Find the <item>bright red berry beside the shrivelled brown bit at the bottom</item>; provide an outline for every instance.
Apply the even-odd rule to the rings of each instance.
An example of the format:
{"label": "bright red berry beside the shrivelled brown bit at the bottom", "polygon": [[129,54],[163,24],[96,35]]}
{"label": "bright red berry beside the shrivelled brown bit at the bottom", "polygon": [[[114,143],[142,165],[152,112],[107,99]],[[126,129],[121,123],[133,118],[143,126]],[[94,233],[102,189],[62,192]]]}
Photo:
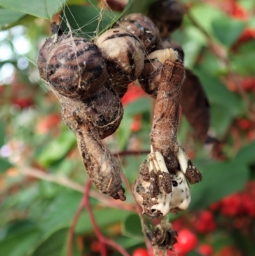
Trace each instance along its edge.
{"label": "bright red berry beside the shrivelled brown bit at the bottom", "polygon": [[181,229],[178,232],[177,243],[174,245],[175,252],[187,253],[196,247],[198,238],[189,229]]}

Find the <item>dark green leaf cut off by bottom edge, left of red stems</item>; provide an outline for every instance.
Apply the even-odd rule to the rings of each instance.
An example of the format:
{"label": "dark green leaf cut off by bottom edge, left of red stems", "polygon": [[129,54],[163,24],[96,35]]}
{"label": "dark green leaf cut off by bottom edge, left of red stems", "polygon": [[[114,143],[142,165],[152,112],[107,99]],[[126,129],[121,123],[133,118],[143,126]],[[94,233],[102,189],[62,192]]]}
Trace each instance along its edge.
{"label": "dark green leaf cut off by bottom edge, left of red stems", "polygon": [[59,229],[47,237],[33,252],[33,256],[56,256],[60,255],[66,244],[66,236],[69,229]]}

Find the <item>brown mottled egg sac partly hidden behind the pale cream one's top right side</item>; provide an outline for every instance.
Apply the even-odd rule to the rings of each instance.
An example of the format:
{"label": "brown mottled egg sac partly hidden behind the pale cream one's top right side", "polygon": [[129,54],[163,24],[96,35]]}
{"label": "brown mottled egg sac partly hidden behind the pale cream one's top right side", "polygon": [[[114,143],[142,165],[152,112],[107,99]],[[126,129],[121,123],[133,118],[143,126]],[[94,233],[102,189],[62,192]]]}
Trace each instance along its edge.
{"label": "brown mottled egg sac partly hidden behind the pale cream one's top right side", "polygon": [[147,54],[161,47],[159,29],[154,22],[142,13],[132,13],[120,19],[117,24],[135,34],[143,43]]}

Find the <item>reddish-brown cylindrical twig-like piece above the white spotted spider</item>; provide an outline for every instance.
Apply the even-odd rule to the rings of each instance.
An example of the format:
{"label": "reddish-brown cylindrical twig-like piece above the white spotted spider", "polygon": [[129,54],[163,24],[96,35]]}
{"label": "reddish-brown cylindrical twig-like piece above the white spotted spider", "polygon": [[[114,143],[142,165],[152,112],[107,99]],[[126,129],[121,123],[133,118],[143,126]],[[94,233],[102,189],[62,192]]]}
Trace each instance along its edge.
{"label": "reddish-brown cylindrical twig-like piece above the white spotted spider", "polygon": [[180,87],[184,77],[185,70],[180,61],[164,62],[150,140],[154,151],[164,156],[168,170],[178,168],[175,144],[179,125]]}

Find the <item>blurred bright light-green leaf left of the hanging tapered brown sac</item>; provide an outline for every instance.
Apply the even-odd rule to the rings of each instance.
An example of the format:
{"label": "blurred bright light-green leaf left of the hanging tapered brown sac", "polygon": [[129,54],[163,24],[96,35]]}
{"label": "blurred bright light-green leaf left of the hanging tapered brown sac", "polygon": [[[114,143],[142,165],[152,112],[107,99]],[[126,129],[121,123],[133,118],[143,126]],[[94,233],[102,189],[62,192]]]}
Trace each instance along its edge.
{"label": "blurred bright light-green leaf left of the hanging tapered brown sac", "polygon": [[38,156],[38,162],[43,167],[48,167],[59,160],[76,145],[76,137],[71,130],[64,130],[59,137],[53,140]]}

